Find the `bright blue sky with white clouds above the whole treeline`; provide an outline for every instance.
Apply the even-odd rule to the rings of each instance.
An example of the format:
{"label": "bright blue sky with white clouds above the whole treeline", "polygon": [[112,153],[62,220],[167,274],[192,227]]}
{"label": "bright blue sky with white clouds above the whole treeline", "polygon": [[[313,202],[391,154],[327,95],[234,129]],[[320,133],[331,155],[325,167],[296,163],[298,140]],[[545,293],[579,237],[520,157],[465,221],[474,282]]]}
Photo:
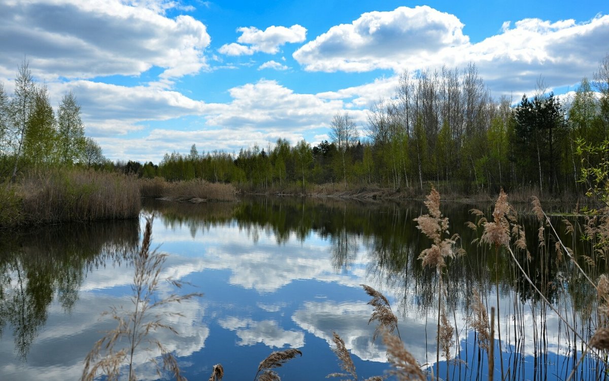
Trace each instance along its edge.
{"label": "bright blue sky with white clouds above the whole treeline", "polygon": [[113,160],[363,131],[398,75],[475,63],[495,97],[565,93],[609,54],[607,1],[0,0],[0,82],[29,60]]}

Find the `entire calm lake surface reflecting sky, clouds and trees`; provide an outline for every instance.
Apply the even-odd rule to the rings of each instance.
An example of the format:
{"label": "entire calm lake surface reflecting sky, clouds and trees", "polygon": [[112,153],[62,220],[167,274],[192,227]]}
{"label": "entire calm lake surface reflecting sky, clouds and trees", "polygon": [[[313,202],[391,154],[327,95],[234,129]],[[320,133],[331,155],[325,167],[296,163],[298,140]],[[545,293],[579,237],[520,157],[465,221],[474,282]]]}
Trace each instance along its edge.
{"label": "entire calm lake surface reflecting sky, clouds and trees", "polygon": [[[489,217],[492,207],[476,206]],[[451,353],[457,361],[448,363],[449,378],[487,379],[486,355],[471,327],[471,303],[473,290],[479,290],[490,311],[497,304],[498,282],[507,379],[566,379],[582,343],[504,250],[495,253],[471,243],[480,235],[466,227],[474,221],[471,208],[462,203],[441,208],[467,253],[449,260],[443,274],[446,311],[456,326]],[[139,220],[5,233],[0,236],[0,379],[80,378],[85,355],[116,326],[102,313],[111,306],[133,306],[133,253],[150,214],[155,214],[152,246],[168,254],[163,277],[188,282],[180,293],[204,293],[161,307],[161,313],[181,313],[167,318],[179,335],[155,334],[174,351],[189,380],[207,380],[217,363],[224,366],[224,380],[252,380],[261,360],[286,348],[303,355],[275,369],[281,379],[322,380],[342,372],[332,351],[333,332],[350,351],[359,379],[386,374],[385,348],[380,338],[373,340],[376,322],[368,324],[372,307],[362,284],[387,296],[406,349],[424,372],[435,375],[437,274],[421,266],[418,255],[431,241],[413,221],[426,212],[415,201],[147,201]],[[526,260],[521,254],[521,264],[566,323],[588,340],[597,321],[596,291],[568,261],[557,262],[553,241],[540,249],[535,217],[521,212],[519,218],[532,256]],[[574,238],[560,218],[554,223],[572,246]],[[586,250],[576,245],[576,256],[590,254]],[[582,266],[593,276],[604,273],[604,262]],[[172,292],[169,282],[161,284],[160,297]],[[138,379],[167,378],[158,377],[145,360],[146,352],[136,353]],[[496,355],[495,379],[501,375],[499,363]],[[604,378],[604,369],[596,355],[587,355],[576,377]],[[443,358],[439,372],[446,379]]]}

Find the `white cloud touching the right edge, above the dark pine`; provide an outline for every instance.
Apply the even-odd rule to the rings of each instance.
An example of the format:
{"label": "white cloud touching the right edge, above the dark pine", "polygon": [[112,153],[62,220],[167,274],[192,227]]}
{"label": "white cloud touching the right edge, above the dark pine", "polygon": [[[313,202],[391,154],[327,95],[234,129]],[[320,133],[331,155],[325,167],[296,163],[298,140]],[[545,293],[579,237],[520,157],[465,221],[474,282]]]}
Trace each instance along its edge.
{"label": "white cloud touching the right edge, above the dark pine", "polygon": [[512,29],[468,46],[456,63],[476,63],[494,92],[527,92],[540,75],[551,87],[571,86],[590,76],[607,54],[599,49],[609,41],[609,16],[585,23],[517,21]]}

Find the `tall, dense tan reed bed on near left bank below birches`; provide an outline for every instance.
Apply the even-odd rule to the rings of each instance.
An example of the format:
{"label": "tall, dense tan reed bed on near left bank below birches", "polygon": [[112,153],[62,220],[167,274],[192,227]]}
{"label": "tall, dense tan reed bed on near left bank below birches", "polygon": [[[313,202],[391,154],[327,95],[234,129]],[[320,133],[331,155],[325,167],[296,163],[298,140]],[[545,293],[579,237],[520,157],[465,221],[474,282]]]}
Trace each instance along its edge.
{"label": "tall, dense tan reed bed on near left bank below birches", "polygon": [[133,177],[83,169],[32,171],[0,186],[0,227],[138,216]]}

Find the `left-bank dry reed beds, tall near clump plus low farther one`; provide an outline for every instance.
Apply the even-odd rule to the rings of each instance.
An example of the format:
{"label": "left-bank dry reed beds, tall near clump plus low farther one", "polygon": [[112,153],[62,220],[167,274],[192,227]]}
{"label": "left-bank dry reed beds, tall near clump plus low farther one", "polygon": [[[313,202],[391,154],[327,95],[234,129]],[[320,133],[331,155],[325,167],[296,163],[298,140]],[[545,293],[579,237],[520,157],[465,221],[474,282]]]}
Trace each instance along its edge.
{"label": "left-bank dry reed beds, tall near clump plus low farther one", "polygon": [[32,170],[0,183],[0,228],[136,218],[142,197],[172,201],[236,201],[230,184],[167,183],[88,169]]}

